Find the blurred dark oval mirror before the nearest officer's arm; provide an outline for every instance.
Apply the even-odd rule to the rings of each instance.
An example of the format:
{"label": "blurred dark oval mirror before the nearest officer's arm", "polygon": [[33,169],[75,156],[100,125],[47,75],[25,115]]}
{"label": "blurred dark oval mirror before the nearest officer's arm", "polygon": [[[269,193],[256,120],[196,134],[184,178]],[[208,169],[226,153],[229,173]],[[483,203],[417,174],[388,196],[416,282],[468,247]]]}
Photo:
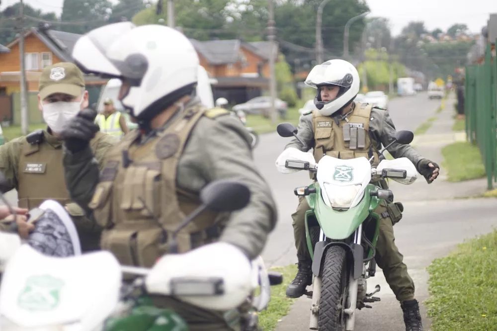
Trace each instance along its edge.
{"label": "blurred dark oval mirror before the nearest officer's arm", "polygon": [[250,201],[250,190],[242,183],[218,180],[208,184],[200,192],[200,201],[216,212],[243,209]]}

